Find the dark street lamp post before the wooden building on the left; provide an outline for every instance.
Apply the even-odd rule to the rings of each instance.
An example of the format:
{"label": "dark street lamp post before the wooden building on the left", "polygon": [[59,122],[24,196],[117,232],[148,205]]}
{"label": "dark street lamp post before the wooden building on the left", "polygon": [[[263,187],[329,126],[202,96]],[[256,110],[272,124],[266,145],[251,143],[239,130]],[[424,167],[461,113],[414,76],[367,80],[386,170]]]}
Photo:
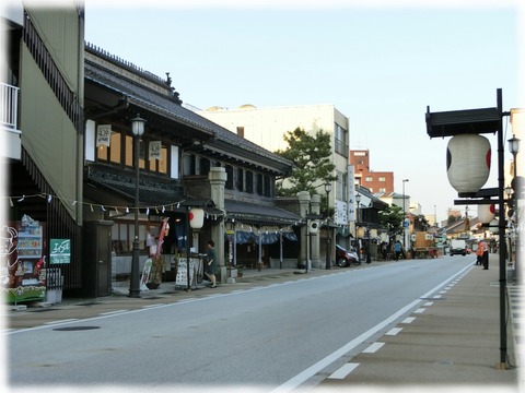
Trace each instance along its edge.
{"label": "dark street lamp post before the wooden building on the left", "polygon": [[139,147],[140,136],[144,133],[144,119],[137,115],[131,119],[131,132],[133,134],[133,165],[135,165],[135,239],[133,253],[131,257],[131,276],[129,281],[128,297],[140,297],[139,285]]}

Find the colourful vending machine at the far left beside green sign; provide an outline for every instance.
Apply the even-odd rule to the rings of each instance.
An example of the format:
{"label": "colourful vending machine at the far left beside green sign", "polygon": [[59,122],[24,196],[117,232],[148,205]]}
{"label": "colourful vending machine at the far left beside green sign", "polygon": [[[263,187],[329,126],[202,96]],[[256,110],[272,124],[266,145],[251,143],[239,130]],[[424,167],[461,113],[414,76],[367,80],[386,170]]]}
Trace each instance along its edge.
{"label": "colourful vending machine at the far left beside green sign", "polygon": [[0,281],[10,303],[45,300],[45,225],[27,215],[0,228]]}

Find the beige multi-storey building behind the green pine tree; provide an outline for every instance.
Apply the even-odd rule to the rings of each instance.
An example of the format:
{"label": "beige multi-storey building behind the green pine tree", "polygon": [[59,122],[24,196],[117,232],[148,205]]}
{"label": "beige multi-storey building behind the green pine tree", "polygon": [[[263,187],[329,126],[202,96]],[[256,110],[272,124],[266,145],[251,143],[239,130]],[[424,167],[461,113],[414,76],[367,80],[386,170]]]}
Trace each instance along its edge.
{"label": "beige multi-storey building behind the green pine tree", "polygon": [[[331,162],[336,166],[337,181],[329,193],[329,206],[335,210],[335,223],[349,227],[353,222],[353,170],[349,170],[350,119],[331,104],[302,105],[287,107],[257,108],[243,105],[236,109],[211,107],[198,114],[225,129],[262,146],[270,152],[287,148],[283,135],[298,127],[314,134],[323,130],[332,135]],[[350,172],[350,176],[349,176]],[[324,182],[319,183],[319,194],[324,194]],[[345,245],[342,239],[338,242]]]}

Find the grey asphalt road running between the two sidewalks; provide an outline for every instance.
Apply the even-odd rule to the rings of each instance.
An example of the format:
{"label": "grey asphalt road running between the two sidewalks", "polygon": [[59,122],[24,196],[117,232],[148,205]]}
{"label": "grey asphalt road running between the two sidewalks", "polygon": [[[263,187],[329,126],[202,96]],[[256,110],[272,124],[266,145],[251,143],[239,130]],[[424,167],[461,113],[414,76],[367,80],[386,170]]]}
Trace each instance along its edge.
{"label": "grey asphalt road running between the two sidewalks", "polygon": [[15,329],[4,333],[8,382],[39,391],[312,386],[469,265],[454,257],[339,270]]}

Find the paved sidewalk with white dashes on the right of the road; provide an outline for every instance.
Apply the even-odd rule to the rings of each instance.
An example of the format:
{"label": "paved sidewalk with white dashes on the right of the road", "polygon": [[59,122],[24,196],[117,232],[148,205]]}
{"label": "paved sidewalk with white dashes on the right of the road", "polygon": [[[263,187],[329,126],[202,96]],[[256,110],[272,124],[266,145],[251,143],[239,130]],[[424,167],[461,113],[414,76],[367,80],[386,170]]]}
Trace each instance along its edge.
{"label": "paved sidewalk with white dashes on the right of the road", "polygon": [[[472,388],[518,392],[523,347],[515,344],[522,317],[521,288],[509,286],[508,365],[500,362],[498,255],[483,271],[472,267],[383,337],[348,359],[320,388]],[[518,389],[521,388],[521,389]],[[375,391],[375,390],[374,390]]]}

